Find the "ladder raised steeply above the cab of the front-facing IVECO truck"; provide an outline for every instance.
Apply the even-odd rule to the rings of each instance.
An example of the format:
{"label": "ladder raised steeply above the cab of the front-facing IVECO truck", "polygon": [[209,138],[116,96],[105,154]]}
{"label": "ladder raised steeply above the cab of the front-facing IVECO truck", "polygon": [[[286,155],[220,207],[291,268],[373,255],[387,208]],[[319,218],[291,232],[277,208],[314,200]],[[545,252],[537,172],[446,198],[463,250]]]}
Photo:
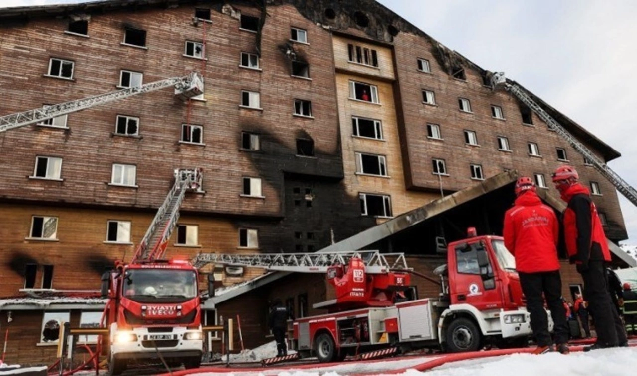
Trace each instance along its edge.
{"label": "ladder raised steeply above the cab of the front-facing IVECO truck", "polygon": [[137,247],[132,262],[152,261],[162,258],[171,233],[179,219],[179,208],[188,190],[201,189],[201,169],[175,170],[175,184]]}

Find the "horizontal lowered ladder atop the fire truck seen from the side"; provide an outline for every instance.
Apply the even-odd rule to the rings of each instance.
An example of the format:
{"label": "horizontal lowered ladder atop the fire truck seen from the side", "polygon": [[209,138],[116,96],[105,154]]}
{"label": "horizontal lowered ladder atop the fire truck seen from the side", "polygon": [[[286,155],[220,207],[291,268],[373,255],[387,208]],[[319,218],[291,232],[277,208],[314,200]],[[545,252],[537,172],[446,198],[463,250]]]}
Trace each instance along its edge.
{"label": "horizontal lowered ladder atop the fire truck seen from the side", "polygon": [[410,270],[403,253],[378,251],[343,251],[332,253],[201,253],[190,263],[201,268],[209,263],[256,267],[280,272],[325,273],[332,265],[347,265],[353,257],[360,258],[368,274],[384,274],[390,270]]}

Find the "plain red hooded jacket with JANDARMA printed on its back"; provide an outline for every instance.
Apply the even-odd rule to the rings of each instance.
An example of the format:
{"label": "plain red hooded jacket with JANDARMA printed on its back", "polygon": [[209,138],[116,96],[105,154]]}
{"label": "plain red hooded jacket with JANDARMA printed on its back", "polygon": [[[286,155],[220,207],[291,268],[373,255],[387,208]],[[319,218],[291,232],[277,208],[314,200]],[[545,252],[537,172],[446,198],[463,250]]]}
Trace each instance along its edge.
{"label": "plain red hooded jacket with JANDARMA printed on its back", "polygon": [[515,256],[519,272],[552,272],[559,270],[557,240],[559,223],[553,209],[542,204],[533,191],[515,199],[505,214],[505,246]]}

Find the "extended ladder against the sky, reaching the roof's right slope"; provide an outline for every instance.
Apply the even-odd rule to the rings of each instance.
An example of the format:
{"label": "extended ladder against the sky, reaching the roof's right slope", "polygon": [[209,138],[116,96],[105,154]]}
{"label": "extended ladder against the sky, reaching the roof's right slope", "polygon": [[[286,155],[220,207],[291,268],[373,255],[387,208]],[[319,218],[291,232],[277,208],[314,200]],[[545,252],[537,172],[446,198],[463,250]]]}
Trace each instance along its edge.
{"label": "extended ladder against the sky, reaching the roof's right slope", "polygon": [[576,151],[578,151],[584,158],[586,158],[598,171],[602,174],[608,181],[610,181],[615,188],[622,193],[624,197],[628,198],[633,205],[637,206],[637,191],[629,185],[624,179],[622,179],[615,171],[610,169],[608,165],[606,165],[601,159],[599,159],[596,155],[594,155],[586,146],[580,143],[575,137],[573,137],[568,130],[564,129],[562,125],[554,120],[550,115],[548,115],[547,111],[544,111],[531,97],[522,90],[519,86],[509,83],[506,81],[504,72],[497,72],[493,74],[491,78],[492,87],[496,87],[496,85],[502,85],[506,91],[515,95],[517,99],[522,101],[522,103],[529,106],[529,108],[533,109],[533,111],[540,116],[540,118],[547,123],[548,127],[552,130],[555,130],[557,134],[562,136],[566,141],[568,141]]}

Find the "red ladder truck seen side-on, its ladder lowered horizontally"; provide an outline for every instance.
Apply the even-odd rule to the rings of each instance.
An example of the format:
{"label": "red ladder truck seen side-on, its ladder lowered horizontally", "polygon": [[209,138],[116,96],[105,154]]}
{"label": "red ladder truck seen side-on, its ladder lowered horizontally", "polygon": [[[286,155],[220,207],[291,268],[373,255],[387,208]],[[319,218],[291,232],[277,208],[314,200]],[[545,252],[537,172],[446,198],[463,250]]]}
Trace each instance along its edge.
{"label": "red ladder truck seen side-on, its ladder lowered horizontally", "polygon": [[326,314],[294,320],[290,340],[301,358],[320,362],[424,348],[476,351],[487,343],[521,347],[532,333],[515,258],[502,237],[477,236],[473,228],[448,245],[447,263],[434,271],[440,294],[415,300],[404,294],[414,272],[401,253],[209,253],[190,262],[326,274],[336,298],[313,305]]}

